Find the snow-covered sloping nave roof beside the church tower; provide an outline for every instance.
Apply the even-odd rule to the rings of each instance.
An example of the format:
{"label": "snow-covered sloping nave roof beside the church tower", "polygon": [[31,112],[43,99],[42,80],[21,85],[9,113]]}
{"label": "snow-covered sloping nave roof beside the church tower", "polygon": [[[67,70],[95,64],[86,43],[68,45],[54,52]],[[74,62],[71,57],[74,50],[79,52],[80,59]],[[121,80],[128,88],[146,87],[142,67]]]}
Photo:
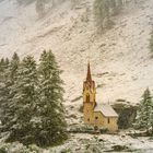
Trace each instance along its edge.
{"label": "snow-covered sloping nave roof beside the church tower", "polygon": [[94,111],[101,111],[105,117],[118,117],[118,114],[108,104],[96,105]]}

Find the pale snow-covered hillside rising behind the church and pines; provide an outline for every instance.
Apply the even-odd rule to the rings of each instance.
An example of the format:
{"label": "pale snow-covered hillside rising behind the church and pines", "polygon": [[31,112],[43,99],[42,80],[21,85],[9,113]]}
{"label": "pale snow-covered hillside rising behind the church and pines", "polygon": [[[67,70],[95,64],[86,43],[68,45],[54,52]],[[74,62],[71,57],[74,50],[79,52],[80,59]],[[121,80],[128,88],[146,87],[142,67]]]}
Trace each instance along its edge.
{"label": "pale snow-covered hillside rising behind the church and pines", "polygon": [[52,49],[66,83],[66,108],[74,114],[82,98],[82,83],[90,57],[98,103],[126,99],[139,103],[143,91],[153,90],[153,59],[149,38],[153,25],[153,1],[125,5],[114,16],[115,26],[97,35],[93,0],[72,9],[70,1],[50,9],[38,19],[35,3],[17,5],[15,0],[0,2],[0,56],[31,54],[38,59],[44,49]]}

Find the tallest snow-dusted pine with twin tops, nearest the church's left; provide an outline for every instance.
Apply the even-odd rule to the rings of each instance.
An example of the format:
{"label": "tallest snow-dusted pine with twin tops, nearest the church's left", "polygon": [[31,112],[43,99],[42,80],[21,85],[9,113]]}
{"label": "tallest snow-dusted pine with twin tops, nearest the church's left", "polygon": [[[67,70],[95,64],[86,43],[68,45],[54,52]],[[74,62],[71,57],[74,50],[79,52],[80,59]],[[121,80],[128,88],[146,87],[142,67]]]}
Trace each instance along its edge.
{"label": "tallest snow-dusted pine with twin tops, nearest the church's left", "polygon": [[43,130],[39,134],[40,145],[54,145],[67,139],[64,109],[62,106],[61,71],[51,50],[44,51],[39,63],[40,111]]}

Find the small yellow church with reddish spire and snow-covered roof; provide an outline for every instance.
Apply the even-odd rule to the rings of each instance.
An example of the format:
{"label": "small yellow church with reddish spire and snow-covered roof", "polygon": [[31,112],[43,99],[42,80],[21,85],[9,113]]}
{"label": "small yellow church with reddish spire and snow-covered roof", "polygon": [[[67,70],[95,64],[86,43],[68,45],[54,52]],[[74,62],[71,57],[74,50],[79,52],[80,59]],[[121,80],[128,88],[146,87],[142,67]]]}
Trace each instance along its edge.
{"label": "small yellow church with reddish spire and snow-covered roof", "polygon": [[109,132],[118,131],[117,113],[110,105],[96,102],[96,87],[92,80],[90,63],[87,76],[83,83],[83,116],[84,123],[93,126],[96,130],[106,128]]}

